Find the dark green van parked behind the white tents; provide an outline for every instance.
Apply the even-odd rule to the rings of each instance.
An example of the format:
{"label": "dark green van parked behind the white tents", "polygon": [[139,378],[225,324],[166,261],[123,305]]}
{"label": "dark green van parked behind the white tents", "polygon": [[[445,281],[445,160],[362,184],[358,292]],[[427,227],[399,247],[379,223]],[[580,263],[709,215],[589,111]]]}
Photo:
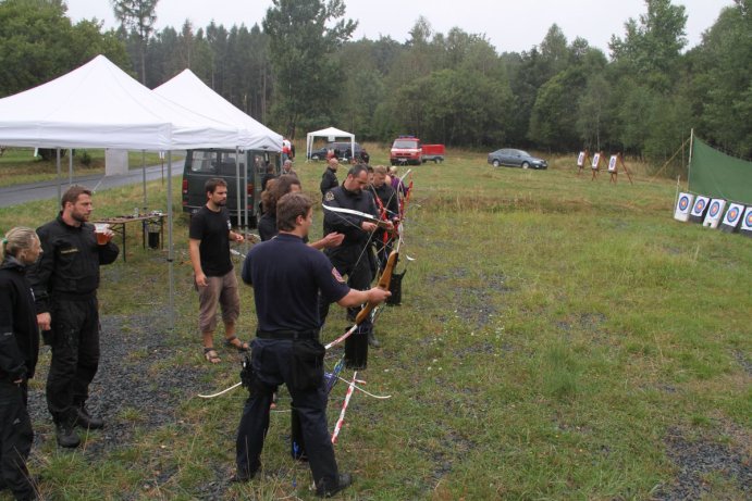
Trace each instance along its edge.
{"label": "dark green van parked behind the white tents", "polygon": [[[237,166],[239,164],[241,189],[245,187],[245,197],[241,197],[241,211],[237,210]],[[261,180],[267,166],[272,165],[275,175],[280,174],[282,155],[278,152],[261,150],[202,149],[188,150],[183,168],[183,212],[195,213],[207,203],[204,190],[206,181],[220,177],[227,183],[227,211],[233,223],[238,227],[255,228],[258,224],[259,202],[261,201]],[[245,209],[248,208],[248,221]]]}

